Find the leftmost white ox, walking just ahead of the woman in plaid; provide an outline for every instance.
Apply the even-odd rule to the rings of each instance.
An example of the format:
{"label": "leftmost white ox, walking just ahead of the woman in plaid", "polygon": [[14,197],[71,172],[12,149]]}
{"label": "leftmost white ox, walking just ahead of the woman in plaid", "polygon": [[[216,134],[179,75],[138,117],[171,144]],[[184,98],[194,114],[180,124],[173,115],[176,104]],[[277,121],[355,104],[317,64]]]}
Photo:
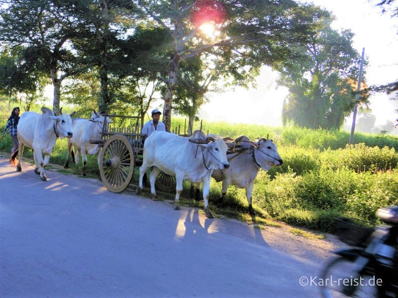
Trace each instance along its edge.
{"label": "leftmost white ox, walking just ahead of the woman in plaid", "polygon": [[[21,115],[18,123],[18,155],[19,160],[16,170],[22,170],[21,160],[24,146],[33,149],[33,157],[35,162],[35,173],[40,174],[42,181],[47,181],[44,167],[50,160],[50,155],[53,151],[55,141],[59,137],[72,138],[72,118],[75,114],[62,114],[55,116],[54,112],[49,108],[42,107],[42,114],[35,112],[24,112]],[[44,155],[44,159],[43,159]]]}

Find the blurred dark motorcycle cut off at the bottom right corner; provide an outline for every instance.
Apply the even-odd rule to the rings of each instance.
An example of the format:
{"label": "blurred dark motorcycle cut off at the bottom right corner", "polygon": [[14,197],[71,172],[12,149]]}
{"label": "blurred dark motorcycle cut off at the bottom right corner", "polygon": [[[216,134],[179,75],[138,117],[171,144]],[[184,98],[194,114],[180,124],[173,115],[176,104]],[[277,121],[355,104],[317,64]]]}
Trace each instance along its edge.
{"label": "blurred dark motorcycle cut off at the bottom right corner", "polygon": [[398,298],[398,206],[380,208],[376,216],[385,225],[370,233],[356,226],[345,238],[355,246],[335,252],[337,257],[325,266],[320,278],[323,297]]}

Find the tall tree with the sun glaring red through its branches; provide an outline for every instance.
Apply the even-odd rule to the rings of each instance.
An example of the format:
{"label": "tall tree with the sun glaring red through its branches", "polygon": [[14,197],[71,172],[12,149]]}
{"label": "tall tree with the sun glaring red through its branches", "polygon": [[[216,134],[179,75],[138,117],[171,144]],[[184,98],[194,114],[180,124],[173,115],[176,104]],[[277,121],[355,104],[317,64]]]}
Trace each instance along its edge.
{"label": "tall tree with the sun glaring red through its branches", "polygon": [[[292,58],[291,49],[306,41],[319,14],[293,0],[138,0],[139,5],[171,37],[168,67],[163,76],[163,121],[170,130],[173,95],[181,61],[203,52],[234,51],[241,59],[230,75],[256,71]],[[200,27],[211,23],[216,35],[203,37]],[[244,63],[251,60],[254,65]]]}

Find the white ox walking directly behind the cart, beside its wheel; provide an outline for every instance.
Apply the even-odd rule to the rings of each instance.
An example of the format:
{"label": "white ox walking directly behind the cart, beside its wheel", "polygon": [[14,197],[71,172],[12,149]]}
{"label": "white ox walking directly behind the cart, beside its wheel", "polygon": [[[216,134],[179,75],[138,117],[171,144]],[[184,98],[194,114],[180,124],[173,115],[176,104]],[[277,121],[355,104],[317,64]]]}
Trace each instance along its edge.
{"label": "white ox walking directly behind the cart, beside its wheel", "polygon": [[[96,112],[91,114],[90,119],[74,118],[72,119],[72,138],[68,139],[68,155],[64,168],[69,167],[69,156],[72,154],[72,161],[79,163],[79,156],[82,154],[83,176],[86,176],[87,155],[97,154],[98,165],[100,166],[100,155],[102,148],[98,144],[90,144],[90,139],[100,139],[102,128],[105,123],[105,116]],[[109,117],[106,117],[106,123],[112,123]],[[76,154],[73,147],[76,147]]]}

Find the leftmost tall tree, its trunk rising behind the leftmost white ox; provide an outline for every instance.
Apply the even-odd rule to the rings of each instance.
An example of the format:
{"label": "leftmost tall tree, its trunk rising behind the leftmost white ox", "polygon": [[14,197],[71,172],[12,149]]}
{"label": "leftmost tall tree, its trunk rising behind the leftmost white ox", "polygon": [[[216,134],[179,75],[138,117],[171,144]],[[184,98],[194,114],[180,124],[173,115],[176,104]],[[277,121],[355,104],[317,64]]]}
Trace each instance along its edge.
{"label": "leftmost tall tree, its trunk rising behind the leftmost white ox", "polygon": [[71,43],[72,38],[81,38],[84,32],[84,26],[74,18],[76,9],[84,5],[82,0],[0,0],[0,41],[10,47],[26,47],[30,53],[28,62],[48,74],[54,86],[56,114],[62,81],[85,67]]}

